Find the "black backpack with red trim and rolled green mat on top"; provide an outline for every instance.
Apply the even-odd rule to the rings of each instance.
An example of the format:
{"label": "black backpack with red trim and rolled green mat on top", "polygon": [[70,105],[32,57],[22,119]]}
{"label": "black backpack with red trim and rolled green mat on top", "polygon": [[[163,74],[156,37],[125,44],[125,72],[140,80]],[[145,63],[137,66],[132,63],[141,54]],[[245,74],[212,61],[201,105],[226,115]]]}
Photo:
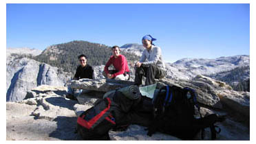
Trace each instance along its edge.
{"label": "black backpack with red trim and rolled green mat on top", "polygon": [[109,130],[125,130],[132,123],[131,109],[137,108],[140,101],[140,95],[127,97],[116,90],[78,117],[76,131],[85,140],[109,140]]}

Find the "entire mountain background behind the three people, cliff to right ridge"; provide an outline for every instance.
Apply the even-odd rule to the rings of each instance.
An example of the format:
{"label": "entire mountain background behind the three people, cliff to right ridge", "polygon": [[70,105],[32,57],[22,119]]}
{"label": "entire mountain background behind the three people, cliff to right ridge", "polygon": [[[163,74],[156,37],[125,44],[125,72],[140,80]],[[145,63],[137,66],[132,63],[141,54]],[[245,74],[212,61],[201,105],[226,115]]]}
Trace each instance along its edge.
{"label": "entire mountain background behind the three people, cliff to right ridge", "polygon": [[[137,49],[141,54],[141,46],[138,44],[122,46],[121,53],[129,62],[131,81],[134,80],[134,62],[140,58],[134,54],[134,51]],[[19,101],[25,96],[25,91],[41,84],[65,85],[74,76],[78,66],[77,56],[81,53],[88,56],[87,63],[95,68],[96,77],[102,78],[104,65],[111,56],[111,47],[106,45],[72,41],[52,45],[44,51],[7,49],[7,99]],[[192,80],[196,75],[206,75],[230,84],[236,91],[250,91],[250,56],[240,55],[216,59],[183,58],[173,63],[166,63],[166,67],[169,79]]]}

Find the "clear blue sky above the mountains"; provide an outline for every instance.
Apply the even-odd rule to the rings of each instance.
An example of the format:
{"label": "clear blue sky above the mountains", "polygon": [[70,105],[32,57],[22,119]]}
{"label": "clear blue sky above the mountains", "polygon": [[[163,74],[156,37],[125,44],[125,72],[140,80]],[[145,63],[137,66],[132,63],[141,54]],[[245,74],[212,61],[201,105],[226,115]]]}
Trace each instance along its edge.
{"label": "clear blue sky above the mountains", "polygon": [[249,4],[7,4],[6,47],[157,38],[164,60],[250,54]]}

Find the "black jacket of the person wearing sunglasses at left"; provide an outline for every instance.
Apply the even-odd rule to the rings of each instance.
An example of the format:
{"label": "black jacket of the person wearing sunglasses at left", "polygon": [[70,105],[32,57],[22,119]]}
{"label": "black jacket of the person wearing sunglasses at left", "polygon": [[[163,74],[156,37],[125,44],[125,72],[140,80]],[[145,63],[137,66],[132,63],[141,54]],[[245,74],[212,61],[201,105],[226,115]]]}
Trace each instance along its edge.
{"label": "black jacket of the person wearing sunglasses at left", "polygon": [[86,64],[85,67],[82,67],[80,65],[76,69],[76,74],[74,75],[74,78],[76,80],[79,80],[81,78],[92,79],[93,73],[94,73],[94,69],[92,69],[92,66],[90,66],[89,64]]}

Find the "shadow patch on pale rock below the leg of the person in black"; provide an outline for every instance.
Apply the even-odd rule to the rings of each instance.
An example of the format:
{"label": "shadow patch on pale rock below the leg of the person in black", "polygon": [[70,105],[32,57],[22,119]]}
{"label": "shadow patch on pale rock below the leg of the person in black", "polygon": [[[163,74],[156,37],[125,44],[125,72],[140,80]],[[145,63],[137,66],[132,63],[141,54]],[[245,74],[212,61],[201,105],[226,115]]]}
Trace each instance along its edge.
{"label": "shadow patch on pale rock below the leg of the person in black", "polygon": [[73,106],[78,103],[77,101],[65,99],[65,97],[49,97],[45,100],[54,106],[68,108],[70,110],[74,110]]}

